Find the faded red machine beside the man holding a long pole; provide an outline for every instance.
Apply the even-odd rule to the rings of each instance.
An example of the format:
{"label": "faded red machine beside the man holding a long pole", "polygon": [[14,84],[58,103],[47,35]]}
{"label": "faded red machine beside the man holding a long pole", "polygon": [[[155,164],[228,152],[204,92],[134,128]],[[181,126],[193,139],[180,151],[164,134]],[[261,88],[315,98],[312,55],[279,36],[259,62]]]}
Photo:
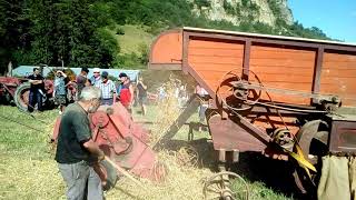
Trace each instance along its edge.
{"label": "faded red machine beside the man holding a long pole", "polygon": [[[149,132],[141,124],[134,122],[130,113],[119,102],[113,106],[100,106],[89,114],[92,139],[117,166],[129,170],[135,176],[154,181],[165,177],[165,167],[157,161],[155,152],[147,144]],[[57,140],[60,117],[56,121],[52,141]],[[108,162],[101,162],[101,178],[106,190],[115,187],[117,170]]]}

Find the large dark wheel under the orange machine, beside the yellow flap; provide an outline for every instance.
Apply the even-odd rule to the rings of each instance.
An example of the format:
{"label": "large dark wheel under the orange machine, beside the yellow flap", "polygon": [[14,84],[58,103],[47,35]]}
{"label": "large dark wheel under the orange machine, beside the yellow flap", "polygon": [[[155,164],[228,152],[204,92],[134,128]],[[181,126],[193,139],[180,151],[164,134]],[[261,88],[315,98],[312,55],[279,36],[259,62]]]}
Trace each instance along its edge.
{"label": "large dark wheel under the orange machine, beside the yellow flap", "polygon": [[301,193],[316,194],[318,181],[322,176],[322,158],[328,153],[327,140],[329,132],[325,121],[314,120],[305,123],[297,133],[297,141],[303,150],[304,157],[314,164],[317,172],[310,172],[297,167],[293,173],[296,186]]}

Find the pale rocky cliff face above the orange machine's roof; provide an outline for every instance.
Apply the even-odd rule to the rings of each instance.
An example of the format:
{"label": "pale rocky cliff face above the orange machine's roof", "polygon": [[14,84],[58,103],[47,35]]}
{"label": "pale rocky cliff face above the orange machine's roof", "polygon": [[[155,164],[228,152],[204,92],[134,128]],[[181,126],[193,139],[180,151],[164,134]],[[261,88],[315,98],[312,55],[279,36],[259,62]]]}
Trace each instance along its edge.
{"label": "pale rocky cliff face above the orange machine's roof", "polygon": [[293,23],[287,0],[188,0],[194,3],[197,16],[216,21],[239,24],[243,21],[263,22],[275,27],[276,23]]}

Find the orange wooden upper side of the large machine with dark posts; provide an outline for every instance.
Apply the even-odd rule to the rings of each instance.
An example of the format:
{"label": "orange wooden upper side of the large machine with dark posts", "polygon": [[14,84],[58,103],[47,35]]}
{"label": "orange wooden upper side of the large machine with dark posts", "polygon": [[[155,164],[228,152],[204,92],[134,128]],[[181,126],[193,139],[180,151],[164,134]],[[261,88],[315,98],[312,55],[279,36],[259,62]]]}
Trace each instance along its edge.
{"label": "orange wooden upper side of the large machine with dark posts", "polygon": [[[150,69],[184,70],[215,98],[229,71],[255,72],[264,86],[322,94],[337,94],[343,106],[356,106],[356,46],[326,41],[209,30],[170,30],[150,52]],[[245,67],[245,68],[244,68]],[[310,98],[269,92],[276,102],[309,104]],[[269,100],[264,92],[263,100]]]}

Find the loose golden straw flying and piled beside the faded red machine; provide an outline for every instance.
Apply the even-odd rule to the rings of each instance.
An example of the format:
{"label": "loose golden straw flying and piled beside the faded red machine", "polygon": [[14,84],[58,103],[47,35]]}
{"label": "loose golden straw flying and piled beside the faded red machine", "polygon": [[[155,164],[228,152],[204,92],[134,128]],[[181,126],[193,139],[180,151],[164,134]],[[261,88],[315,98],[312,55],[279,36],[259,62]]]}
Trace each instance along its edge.
{"label": "loose golden straw flying and piled beside the faded red machine", "polygon": [[[170,81],[165,84],[167,98],[159,103],[156,123],[151,128],[150,146],[155,146],[165,131],[179,116],[177,99],[174,97],[175,86]],[[167,176],[161,182],[141,180],[146,190],[139,189],[131,181],[122,178],[113,190],[107,193],[107,199],[202,199],[202,181],[211,174],[209,169],[198,169],[198,157],[187,147],[178,151],[160,150],[158,160],[167,168]]]}

